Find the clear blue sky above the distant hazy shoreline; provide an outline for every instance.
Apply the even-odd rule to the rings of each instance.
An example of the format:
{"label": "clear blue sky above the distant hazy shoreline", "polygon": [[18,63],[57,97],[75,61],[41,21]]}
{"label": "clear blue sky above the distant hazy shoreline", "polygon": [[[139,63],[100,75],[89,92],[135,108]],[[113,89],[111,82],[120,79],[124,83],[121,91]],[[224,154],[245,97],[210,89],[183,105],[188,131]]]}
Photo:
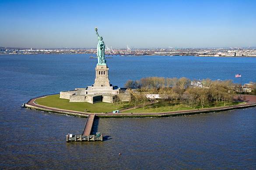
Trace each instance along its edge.
{"label": "clear blue sky above the distant hazy shoreline", "polygon": [[0,46],[256,47],[256,0],[0,0]]}

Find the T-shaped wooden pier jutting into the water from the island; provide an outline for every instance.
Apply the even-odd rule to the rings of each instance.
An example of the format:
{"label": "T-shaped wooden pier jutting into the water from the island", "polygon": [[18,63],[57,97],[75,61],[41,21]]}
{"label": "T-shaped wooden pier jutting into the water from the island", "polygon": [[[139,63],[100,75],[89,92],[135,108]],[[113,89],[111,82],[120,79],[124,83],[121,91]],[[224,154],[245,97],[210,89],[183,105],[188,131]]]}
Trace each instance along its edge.
{"label": "T-shaped wooden pier jutting into the water from the island", "polygon": [[82,141],[103,141],[103,133],[96,133],[95,135],[90,135],[95,115],[89,115],[84,126],[84,131],[81,135],[68,134],[66,136],[66,141],[82,142]]}

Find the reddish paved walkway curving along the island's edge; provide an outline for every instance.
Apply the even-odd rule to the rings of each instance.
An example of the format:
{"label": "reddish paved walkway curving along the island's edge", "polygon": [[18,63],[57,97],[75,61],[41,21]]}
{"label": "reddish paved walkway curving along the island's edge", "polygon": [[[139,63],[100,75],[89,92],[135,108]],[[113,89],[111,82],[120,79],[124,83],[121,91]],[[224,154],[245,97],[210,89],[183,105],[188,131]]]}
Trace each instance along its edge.
{"label": "reddish paved walkway curving along the island's edge", "polygon": [[[43,97],[43,96],[41,96]],[[38,98],[41,98],[38,97]],[[216,112],[216,111],[224,111],[224,110],[229,110],[229,109],[239,109],[239,108],[245,108],[245,107],[252,107],[256,106],[256,96],[255,95],[236,95],[235,99],[241,101],[241,102],[246,102],[246,104],[240,104],[240,105],[233,105],[233,106],[223,106],[223,107],[216,107],[216,108],[207,108],[207,109],[193,109],[193,110],[181,110],[181,111],[175,111],[175,112],[158,112],[158,113],[86,113],[86,112],[78,112],[78,111],[73,111],[73,110],[65,110],[65,109],[56,109],[56,108],[51,108],[43,105],[38,105],[35,103],[35,100],[38,98],[34,98],[29,100],[26,103],[26,107],[28,108],[35,108],[35,109],[46,109],[46,111],[53,111],[53,112],[60,112],[60,113],[65,113],[65,114],[79,114],[79,115],[94,115],[95,116],[117,116],[117,115],[170,115],[170,116],[175,116],[175,115],[183,115],[183,114],[195,114],[195,113],[201,113],[201,112]]]}

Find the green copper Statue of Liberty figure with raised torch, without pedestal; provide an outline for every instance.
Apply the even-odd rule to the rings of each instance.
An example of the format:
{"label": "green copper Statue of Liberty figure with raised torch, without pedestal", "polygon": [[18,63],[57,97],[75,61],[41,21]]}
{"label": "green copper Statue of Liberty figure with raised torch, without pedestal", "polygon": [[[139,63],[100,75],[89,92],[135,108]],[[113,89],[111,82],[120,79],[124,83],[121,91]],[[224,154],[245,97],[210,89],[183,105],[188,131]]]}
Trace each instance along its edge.
{"label": "green copper Statue of Liberty figure with raised torch, without pedestal", "polygon": [[98,35],[98,28],[95,28],[96,35],[98,36],[98,45],[97,45],[97,58],[98,63],[97,65],[107,65],[105,60],[105,44],[103,41],[102,36]]}

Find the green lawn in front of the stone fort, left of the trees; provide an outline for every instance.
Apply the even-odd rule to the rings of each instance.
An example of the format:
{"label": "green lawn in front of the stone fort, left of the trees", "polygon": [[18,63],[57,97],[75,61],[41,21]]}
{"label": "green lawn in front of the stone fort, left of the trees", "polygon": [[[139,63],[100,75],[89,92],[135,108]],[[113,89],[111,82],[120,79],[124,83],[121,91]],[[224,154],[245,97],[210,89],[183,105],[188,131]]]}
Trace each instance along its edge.
{"label": "green lawn in front of the stone fort, left of the trees", "polygon": [[[80,112],[84,112],[84,109],[87,109],[87,112],[91,113],[111,112],[116,110],[116,104],[104,102],[98,102],[95,104],[87,102],[69,102],[67,99],[60,99],[60,95],[49,95],[45,98],[36,99],[35,102],[39,105],[45,105],[58,109],[75,110]],[[124,105],[118,106],[118,109],[123,109],[123,107],[128,106],[128,103],[124,103]]]}

